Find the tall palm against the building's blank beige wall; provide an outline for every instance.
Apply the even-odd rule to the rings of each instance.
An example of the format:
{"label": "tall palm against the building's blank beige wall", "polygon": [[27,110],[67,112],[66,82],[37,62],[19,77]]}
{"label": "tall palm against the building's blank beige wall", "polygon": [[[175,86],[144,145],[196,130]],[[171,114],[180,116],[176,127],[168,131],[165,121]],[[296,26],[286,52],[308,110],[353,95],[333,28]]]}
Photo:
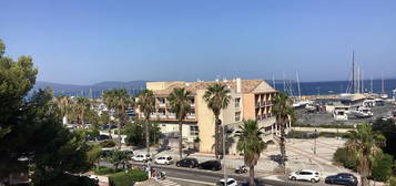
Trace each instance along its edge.
{"label": "tall palm against the building's blank beige wall", "polygon": [[[214,126],[214,153],[216,159],[219,159],[219,154],[221,148],[221,134],[220,134],[220,125],[221,121],[219,118],[220,113],[222,110],[229,106],[231,95],[230,90],[225,84],[215,83],[207,87],[203,99],[205,100],[207,107],[212,110],[215,118],[215,126]],[[223,152],[223,155],[225,152]]]}

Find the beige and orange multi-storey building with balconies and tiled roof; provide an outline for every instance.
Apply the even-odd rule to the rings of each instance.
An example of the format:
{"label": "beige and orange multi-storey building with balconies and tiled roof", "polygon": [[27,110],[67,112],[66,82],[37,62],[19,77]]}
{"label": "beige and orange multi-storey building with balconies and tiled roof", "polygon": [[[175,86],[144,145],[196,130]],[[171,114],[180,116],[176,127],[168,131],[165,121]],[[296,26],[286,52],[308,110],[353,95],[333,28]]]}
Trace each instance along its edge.
{"label": "beige and orange multi-storey building with balconies and tiled roof", "polygon": [[[200,140],[200,152],[214,152],[214,115],[207,107],[203,95],[211,84],[221,83],[230,89],[231,102],[220,114],[222,124],[227,131],[236,132],[243,120],[255,120],[265,127],[265,140],[272,140],[276,133],[275,118],[272,116],[272,100],[277,91],[263,80],[223,80],[212,82],[148,82],[146,89],[155,95],[155,112],[151,121],[158,121],[162,134],[166,137],[179,135],[179,123],[175,114],[171,112],[167,96],[175,87],[184,87],[191,92],[191,111],[183,121],[183,141],[193,144]],[[138,111],[138,116],[143,117]],[[231,136],[233,134],[230,134]],[[227,144],[229,153],[235,154],[236,141]]]}

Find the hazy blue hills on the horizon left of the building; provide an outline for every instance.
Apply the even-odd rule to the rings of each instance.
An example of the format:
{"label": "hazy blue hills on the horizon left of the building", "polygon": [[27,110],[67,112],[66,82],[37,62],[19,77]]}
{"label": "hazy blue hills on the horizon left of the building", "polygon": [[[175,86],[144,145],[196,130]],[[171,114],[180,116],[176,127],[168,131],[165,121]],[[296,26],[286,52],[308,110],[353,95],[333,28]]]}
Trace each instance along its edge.
{"label": "hazy blue hills on the horizon left of the building", "polygon": [[61,84],[61,83],[52,83],[38,81],[33,90],[52,87],[54,92],[60,91],[87,91],[87,90],[109,90],[109,89],[142,89],[145,87],[145,83],[148,81],[139,80],[139,81],[106,81],[100,82],[92,85],[74,85],[74,84]]}

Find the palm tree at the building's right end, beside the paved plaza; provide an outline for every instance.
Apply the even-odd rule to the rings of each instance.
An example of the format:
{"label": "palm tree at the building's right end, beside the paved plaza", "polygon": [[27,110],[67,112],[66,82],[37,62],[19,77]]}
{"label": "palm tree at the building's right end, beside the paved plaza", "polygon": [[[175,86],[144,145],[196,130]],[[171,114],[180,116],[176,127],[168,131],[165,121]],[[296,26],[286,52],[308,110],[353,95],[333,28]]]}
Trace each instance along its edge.
{"label": "palm tree at the building's right end, beside the paved plaza", "polygon": [[285,146],[285,128],[287,123],[294,122],[295,112],[292,106],[292,100],[287,94],[281,92],[274,97],[273,115],[276,117],[276,125],[281,127],[281,167],[285,170],[286,146]]}

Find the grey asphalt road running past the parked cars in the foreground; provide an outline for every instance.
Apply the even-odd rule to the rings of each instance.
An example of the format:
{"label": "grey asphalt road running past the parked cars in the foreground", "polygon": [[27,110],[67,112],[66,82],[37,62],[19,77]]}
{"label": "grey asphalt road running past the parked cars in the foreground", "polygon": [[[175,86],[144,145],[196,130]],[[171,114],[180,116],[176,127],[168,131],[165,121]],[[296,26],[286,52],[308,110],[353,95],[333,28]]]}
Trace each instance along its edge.
{"label": "grey asphalt road running past the parked cars in the foreground", "polygon": [[[110,163],[101,162],[102,166],[112,166]],[[144,163],[132,162],[133,166],[144,166]],[[166,177],[179,185],[186,186],[204,186],[204,185],[215,185],[220,179],[224,178],[223,172],[212,172],[197,168],[184,168],[175,167],[174,165],[162,166],[152,165],[152,167],[158,170],[163,170],[166,173]],[[246,183],[248,180],[248,175],[231,175],[229,177],[235,178],[238,183]],[[291,182],[287,180],[286,176],[281,176],[278,180],[275,179],[257,179],[260,186],[323,186],[323,183],[312,184],[304,182]]]}

